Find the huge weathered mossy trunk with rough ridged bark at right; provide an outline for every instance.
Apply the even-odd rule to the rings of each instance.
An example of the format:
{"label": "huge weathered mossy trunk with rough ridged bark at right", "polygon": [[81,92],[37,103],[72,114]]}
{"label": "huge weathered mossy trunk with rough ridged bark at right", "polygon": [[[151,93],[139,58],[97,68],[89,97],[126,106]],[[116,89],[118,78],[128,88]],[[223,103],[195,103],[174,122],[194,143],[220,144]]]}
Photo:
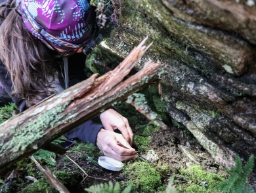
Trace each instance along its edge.
{"label": "huge weathered mossy trunk with rough ridged bark at right", "polygon": [[165,64],[163,98],[170,118],[184,124],[219,164],[234,166],[234,154],[256,156],[252,1],[112,2],[119,20],[106,27],[104,47],[124,58],[146,35],[154,41],[137,67],[150,59]]}

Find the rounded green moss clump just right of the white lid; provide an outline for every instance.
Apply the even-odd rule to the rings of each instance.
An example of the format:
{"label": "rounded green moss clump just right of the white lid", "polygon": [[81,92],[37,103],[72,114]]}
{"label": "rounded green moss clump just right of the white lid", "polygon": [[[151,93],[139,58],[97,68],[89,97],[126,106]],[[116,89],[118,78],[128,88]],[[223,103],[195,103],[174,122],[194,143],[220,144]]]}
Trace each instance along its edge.
{"label": "rounded green moss clump just right of the white lid", "polygon": [[127,184],[132,185],[132,192],[155,192],[156,188],[161,186],[160,173],[146,162],[128,164],[125,166],[124,173],[131,179]]}

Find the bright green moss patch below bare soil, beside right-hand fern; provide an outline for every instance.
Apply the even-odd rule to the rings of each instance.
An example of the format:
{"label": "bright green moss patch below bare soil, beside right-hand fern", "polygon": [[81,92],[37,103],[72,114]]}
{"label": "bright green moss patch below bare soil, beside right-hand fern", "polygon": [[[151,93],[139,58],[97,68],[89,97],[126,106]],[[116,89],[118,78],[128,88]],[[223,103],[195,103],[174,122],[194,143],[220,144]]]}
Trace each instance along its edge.
{"label": "bright green moss patch below bare soil, beside right-hand fern", "polygon": [[[190,166],[188,169],[181,167],[180,172],[189,184],[186,188],[177,186],[177,190],[184,193],[211,193],[215,186],[224,180],[220,175],[203,171],[201,166]],[[176,180],[175,182],[179,181]]]}

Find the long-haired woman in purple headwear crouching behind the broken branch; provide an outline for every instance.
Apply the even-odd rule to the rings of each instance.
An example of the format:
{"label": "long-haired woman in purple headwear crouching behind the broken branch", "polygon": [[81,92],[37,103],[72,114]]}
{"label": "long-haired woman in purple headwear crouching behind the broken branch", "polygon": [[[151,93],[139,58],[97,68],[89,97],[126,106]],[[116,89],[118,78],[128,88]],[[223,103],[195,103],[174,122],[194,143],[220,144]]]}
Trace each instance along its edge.
{"label": "long-haired woman in purple headwear crouching behind the broken branch", "polygon": [[[81,52],[96,34],[95,7],[87,0],[5,1],[0,18],[0,82],[20,112],[87,79]],[[117,145],[131,148],[127,119],[113,109],[100,119],[105,130],[89,121],[65,135],[90,141],[117,160],[136,158],[134,149]]]}

